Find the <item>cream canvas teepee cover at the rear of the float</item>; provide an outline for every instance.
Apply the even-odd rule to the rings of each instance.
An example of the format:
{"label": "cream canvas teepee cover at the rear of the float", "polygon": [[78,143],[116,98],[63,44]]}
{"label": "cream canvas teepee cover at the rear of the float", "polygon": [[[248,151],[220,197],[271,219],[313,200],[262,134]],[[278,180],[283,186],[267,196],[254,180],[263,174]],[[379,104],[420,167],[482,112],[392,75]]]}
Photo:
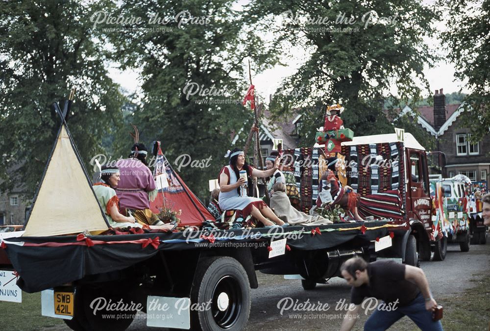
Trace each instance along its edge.
{"label": "cream canvas teepee cover at the rear of the float", "polygon": [[62,124],[35,197],[24,236],[108,229],[65,124]]}

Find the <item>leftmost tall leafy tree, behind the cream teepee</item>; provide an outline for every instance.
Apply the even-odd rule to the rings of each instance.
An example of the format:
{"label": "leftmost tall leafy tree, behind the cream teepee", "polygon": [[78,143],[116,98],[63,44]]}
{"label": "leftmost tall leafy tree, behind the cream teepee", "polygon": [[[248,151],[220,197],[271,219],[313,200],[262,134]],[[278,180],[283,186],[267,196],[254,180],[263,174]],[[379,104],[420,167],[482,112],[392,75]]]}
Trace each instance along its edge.
{"label": "leftmost tall leafy tree, behind the cream teepee", "polygon": [[71,87],[77,92],[67,121],[86,165],[120,126],[124,98],[86,19],[107,3],[0,2],[2,190],[22,183],[33,196],[61,123],[50,104],[66,99]]}

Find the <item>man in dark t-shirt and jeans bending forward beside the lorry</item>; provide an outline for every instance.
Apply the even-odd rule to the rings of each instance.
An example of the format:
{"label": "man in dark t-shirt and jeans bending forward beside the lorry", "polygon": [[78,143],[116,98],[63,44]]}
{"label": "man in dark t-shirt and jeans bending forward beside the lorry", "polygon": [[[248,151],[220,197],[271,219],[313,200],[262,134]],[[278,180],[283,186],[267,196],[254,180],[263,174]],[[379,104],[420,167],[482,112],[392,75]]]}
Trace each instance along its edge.
{"label": "man in dark t-shirt and jeans bending forward beside the lorry", "polygon": [[442,331],[441,321],[432,320],[431,311],[437,303],[421,269],[392,260],[368,263],[356,256],[343,263],[341,273],[352,285],[350,312],[343,319],[341,331],[352,330],[361,309],[367,312],[373,307],[370,303],[362,306],[364,298],[383,301],[366,321],[364,330],[387,330],[406,315],[420,330]]}

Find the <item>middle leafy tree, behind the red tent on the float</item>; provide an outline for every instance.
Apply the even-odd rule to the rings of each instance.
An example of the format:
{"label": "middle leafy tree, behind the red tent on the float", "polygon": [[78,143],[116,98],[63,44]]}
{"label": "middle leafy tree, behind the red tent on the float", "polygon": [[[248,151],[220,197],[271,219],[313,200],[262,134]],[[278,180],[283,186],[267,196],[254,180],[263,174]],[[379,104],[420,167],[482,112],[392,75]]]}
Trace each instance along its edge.
{"label": "middle leafy tree, behind the red tent on the float", "polygon": [[[160,140],[172,166],[204,197],[208,180],[218,178],[228,162],[223,155],[233,149],[233,132],[248,133],[252,124],[252,112],[241,104],[249,84],[246,59],[260,71],[275,57],[245,25],[243,13],[232,9],[234,1],[196,0],[192,7],[187,1],[157,2],[126,1],[108,13],[141,18],[137,26],[96,28],[106,31],[121,69],[141,70],[143,92],[131,120],[143,142]],[[124,154],[132,143],[126,137]],[[187,164],[190,159],[203,168]]]}

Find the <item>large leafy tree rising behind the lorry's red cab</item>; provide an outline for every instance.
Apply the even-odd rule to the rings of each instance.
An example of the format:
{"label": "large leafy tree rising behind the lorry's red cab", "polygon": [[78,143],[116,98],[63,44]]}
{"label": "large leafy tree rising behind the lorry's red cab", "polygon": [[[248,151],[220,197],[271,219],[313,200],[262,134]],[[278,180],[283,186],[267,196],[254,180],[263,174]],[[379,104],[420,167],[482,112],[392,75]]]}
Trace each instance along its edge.
{"label": "large leafy tree rising behind the lorry's red cab", "polygon": [[343,103],[345,127],[357,135],[387,133],[393,127],[383,101],[394,87],[398,106],[421,99],[418,81],[430,91],[422,70],[436,56],[423,37],[434,33],[436,8],[411,0],[266,0],[252,1],[249,11],[249,20],[273,33],[277,45],[311,53],[284,80],[281,89],[289,93],[271,103],[279,115],[298,107],[305,112],[302,143],[314,141],[327,104]]}

